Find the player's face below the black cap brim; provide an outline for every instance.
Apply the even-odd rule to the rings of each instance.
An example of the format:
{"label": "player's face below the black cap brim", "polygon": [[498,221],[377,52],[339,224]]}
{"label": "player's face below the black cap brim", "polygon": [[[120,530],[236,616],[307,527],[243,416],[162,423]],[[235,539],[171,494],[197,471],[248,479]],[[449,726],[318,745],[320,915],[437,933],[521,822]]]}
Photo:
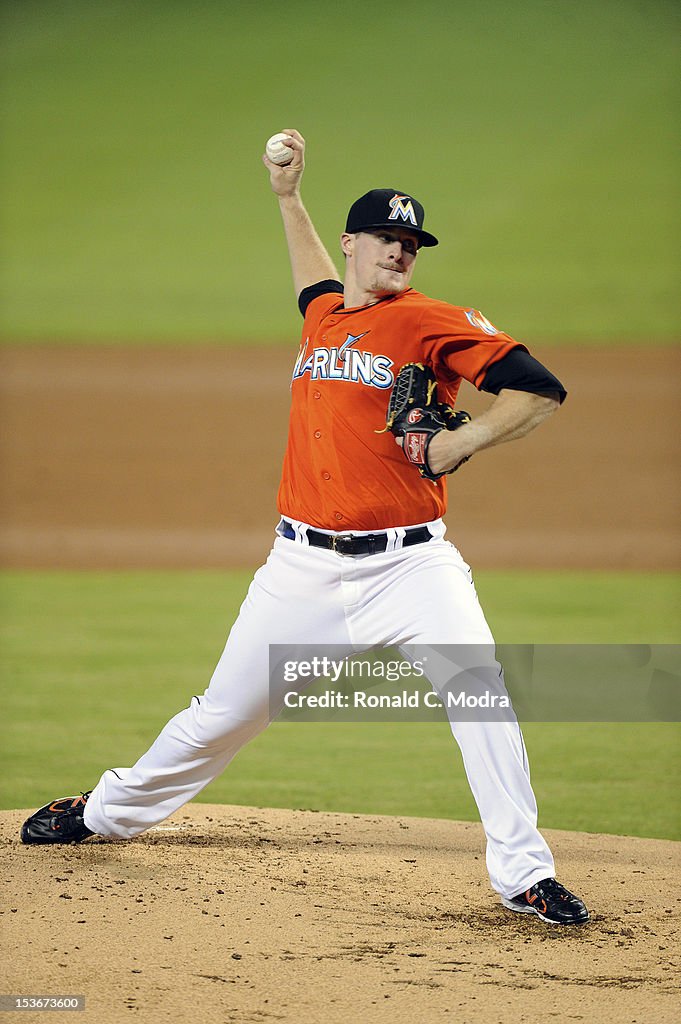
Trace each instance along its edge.
{"label": "player's face below the black cap brim", "polygon": [[[344,251],[353,262],[354,281],[364,292],[396,295],[409,288],[419,238],[403,227],[381,227],[344,236]],[[349,251],[348,251],[349,249]]]}

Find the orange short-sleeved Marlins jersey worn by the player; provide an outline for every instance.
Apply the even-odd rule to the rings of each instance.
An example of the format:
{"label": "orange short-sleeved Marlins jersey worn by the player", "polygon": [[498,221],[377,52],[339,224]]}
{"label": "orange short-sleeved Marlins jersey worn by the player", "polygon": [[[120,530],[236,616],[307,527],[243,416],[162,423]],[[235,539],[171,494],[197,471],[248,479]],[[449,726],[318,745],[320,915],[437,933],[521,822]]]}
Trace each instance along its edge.
{"label": "orange short-sleeved Marlins jersey worn by the player", "polygon": [[445,477],[424,479],[381,433],[395,376],[424,362],[440,400],[454,404],[462,379],[479,387],[514,347],[522,348],[479,311],[413,289],[354,309],[338,292],[314,298],[293,370],[279,511],[337,532],[439,518]]}

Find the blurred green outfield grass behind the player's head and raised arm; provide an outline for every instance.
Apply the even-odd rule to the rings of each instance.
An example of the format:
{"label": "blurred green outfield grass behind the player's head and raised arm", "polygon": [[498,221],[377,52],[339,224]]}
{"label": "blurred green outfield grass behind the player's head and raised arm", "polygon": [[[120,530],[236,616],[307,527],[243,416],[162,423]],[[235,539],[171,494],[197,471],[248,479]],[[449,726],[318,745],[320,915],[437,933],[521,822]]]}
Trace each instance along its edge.
{"label": "blurred green outfield grass behind the player's head and raised arm", "polygon": [[442,239],[416,287],[530,342],[672,341],[678,9],[666,0],[6,0],[8,341],[297,339],[260,165],[308,139],[336,252],[390,185]]}

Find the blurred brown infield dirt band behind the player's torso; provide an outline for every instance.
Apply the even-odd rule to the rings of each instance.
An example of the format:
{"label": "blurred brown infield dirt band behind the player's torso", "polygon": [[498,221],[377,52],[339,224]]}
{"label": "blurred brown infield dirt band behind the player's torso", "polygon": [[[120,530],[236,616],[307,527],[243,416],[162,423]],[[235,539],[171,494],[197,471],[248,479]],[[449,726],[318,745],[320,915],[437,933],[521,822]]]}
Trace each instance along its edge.
{"label": "blurred brown infield dirt band behind the player's torso", "polygon": [[[537,355],[567,400],[450,478],[450,539],[474,569],[679,568],[681,350]],[[0,562],[255,567],[278,520],[294,357],[2,350]],[[459,407],[488,400],[466,385]]]}

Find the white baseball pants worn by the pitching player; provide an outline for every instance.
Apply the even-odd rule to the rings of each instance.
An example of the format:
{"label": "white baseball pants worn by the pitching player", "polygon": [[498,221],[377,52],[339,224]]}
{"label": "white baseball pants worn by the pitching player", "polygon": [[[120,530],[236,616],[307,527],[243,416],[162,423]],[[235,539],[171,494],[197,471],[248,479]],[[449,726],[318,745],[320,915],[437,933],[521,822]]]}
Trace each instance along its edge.
{"label": "white baseball pants worn by the pitching player", "polygon": [[[269,644],[494,645],[470,569],[444,540],[361,556],[278,537],[258,569],[208,688],[168,722],[132,768],[104,772],[85,807],[100,836],[130,839],[158,824],[212,781],[270,721]],[[427,673],[428,674],[428,673]],[[434,688],[437,681],[430,679]],[[511,722],[451,720],[486,835],[493,887],[510,898],[554,874],[537,828],[520,728]],[[321,756],[324,756],[323,754]]]}

